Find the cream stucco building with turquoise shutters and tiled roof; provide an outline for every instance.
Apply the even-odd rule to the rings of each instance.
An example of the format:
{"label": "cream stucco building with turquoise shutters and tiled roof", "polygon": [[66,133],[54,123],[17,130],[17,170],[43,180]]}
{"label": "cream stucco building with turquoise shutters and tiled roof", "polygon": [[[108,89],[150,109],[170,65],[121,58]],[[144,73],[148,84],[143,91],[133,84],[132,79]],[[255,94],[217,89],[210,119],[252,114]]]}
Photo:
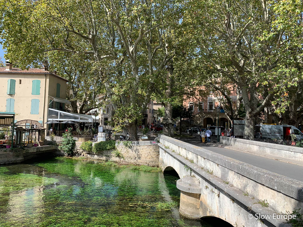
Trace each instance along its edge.
{"label": "cream stucco building with turquoise shutters and tiled roof", "polygon": [[48,121],[49,108],[65,111],[66,83],[55,73],[41,68],[22,70],[6,62],[0,67],[0,112],[15,112],[15,123],[31,127]]}

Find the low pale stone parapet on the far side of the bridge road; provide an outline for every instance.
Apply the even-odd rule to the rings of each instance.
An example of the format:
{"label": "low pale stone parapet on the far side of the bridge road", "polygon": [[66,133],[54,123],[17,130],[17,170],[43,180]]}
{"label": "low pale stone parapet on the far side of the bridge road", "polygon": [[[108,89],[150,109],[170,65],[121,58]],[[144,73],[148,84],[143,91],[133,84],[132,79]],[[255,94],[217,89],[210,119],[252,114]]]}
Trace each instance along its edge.
{"label": "low pale stone parapet on the far side of the bridge road", "polygon": [[257,151],[264,154],[280,156],[303,162],[303,148],[296,146],[286,146],[275,143],[265,143],[253,140],[244,140],[231,137],[220,137],[220,142],[225,145],[234,146],[242,150]]}

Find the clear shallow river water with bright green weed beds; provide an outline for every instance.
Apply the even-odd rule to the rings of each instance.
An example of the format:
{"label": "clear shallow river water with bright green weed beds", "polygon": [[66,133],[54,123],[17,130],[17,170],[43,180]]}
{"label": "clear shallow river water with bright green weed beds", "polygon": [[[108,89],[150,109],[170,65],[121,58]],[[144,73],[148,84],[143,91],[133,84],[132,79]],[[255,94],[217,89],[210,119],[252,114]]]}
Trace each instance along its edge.
{"label": "clear shallow river water with bright green weed beds", "polygon": [[64,157],[2,165],[0,226],[219,226],[156,209],[156,202],[179,203],[177,179]]}

